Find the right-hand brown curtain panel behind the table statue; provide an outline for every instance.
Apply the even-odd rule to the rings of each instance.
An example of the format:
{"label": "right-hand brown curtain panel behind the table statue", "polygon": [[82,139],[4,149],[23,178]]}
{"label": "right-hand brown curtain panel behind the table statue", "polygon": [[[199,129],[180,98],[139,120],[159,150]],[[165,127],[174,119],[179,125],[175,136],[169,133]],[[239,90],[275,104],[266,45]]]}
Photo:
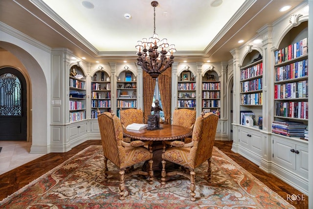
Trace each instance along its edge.
{"label": "right-hand brown curtain panel behind the table statue", "polygon": [[172,68],[168,68],[158,76],[158,87],[162,101],[165,124],[171,124],[172,101]]}

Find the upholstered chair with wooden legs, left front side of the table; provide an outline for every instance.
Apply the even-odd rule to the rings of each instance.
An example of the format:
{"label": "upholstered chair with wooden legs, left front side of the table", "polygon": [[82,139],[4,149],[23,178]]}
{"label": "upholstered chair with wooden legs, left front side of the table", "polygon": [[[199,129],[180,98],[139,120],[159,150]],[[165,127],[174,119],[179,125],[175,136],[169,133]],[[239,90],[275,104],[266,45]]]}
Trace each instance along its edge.
{"label": "upholstered chair with wooden legs, left front side of the table", "polygon": [[[148,176],[149,184],[153,184],[153,170],[152,170],[152,147],[151,142],[149,141],[140,141],[134,140],[130,143],[123,141],[123,128],[120,122],[120,119],[114,115],[114,113],[100,113],[98,110],[98,122],[100,128],[100,135],[103,147],[104,155],[104,177],[107,181],[108,175],[119,174],[120,178],[120,200],[124,200],[124,175],[125,170],[128,167],[131,167],[137,163],[149,162],[148,172],[130,170],[127,172],[128,176],[131,175],[145,175]],[[149,148],[145,148],[148,146]],[[107,162],[110,160],[114,163],[119,170],[118,171],[109,171]]]}

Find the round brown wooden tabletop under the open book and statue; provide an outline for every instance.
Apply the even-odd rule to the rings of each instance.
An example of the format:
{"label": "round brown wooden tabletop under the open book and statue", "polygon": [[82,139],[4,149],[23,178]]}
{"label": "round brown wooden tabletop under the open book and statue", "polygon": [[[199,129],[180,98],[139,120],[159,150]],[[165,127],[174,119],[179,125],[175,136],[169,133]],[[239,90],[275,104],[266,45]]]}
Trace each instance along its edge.
{"label": "round brown wooden tabletop under the open book and statue", "polygon": [[139,131],[124,129],[124,137],[131,139],[145,140],[145,141],[166,141],[177,140],[190,137],[192,130],[183,126],[160,124],[160,129],[148,130],[142,129]]}

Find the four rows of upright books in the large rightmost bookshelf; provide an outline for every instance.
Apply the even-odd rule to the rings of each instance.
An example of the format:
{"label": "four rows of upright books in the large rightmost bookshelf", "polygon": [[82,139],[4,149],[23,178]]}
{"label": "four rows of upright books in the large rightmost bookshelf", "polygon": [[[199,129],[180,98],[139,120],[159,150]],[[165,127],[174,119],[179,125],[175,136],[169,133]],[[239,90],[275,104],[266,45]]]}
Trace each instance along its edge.
{"label": "four rows of upright books in the large rightmost bookshelf", "polygon": [[274,120],[308,122],[307,40],[301,38],[274,53]]}

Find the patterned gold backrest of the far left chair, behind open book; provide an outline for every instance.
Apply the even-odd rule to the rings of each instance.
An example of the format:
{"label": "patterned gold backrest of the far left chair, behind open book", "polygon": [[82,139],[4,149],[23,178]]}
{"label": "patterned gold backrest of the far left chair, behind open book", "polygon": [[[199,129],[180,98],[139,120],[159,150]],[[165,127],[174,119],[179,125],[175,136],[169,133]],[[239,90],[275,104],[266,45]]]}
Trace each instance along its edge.
{"label": "patterned gold backrest of the far left chair, behind open book", "polygon": [[119,116],[124,128],[132,123],[143,123],[143,112],[141,109],[130,108],[126,110],[120,110]]}

